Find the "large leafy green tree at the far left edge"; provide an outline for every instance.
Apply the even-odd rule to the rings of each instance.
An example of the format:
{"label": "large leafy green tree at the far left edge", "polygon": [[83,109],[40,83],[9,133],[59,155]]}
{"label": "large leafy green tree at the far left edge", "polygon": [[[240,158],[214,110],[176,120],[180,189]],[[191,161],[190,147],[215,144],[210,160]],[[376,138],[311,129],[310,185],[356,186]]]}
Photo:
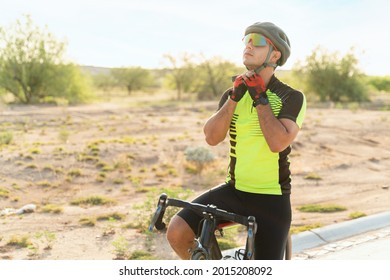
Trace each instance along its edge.
{"label": "large leafy green tree at the far left edge", "polygon": [[47,27],[36,26],[30,16],[8,29],[0,27],[0,87],[26,104],[64,97],[62,93],[70,88],[72,94],[65,94],[72,96],[72,102],[84,98],[88,89],[81,86],[81,72],[75,65],[65,65],[64,53],[65,43],[57,41]]}

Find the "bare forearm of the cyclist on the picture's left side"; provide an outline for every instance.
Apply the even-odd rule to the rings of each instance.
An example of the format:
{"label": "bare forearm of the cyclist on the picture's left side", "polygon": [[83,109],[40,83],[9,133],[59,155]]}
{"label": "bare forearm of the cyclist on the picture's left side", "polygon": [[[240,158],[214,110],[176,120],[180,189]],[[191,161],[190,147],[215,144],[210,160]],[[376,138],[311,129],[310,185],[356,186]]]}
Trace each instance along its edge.
{"label": "bare forearm of the cyclist on the picture's left side", "polygon": [[236,106],[237,102],[228,99],[222,108],[206,121],[203,132],[209,145],[215,146],[225,139]]}

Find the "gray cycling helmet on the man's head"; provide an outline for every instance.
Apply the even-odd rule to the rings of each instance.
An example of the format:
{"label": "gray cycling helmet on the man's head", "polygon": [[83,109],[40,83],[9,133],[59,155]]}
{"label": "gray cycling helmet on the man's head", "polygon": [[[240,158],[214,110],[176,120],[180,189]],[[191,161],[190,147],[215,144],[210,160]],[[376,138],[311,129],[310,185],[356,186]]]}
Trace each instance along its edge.
{"label": "gray cycling helmet on the man's head", "polygon": [[282,29],[271,22],[256,22],[246,28],[245,36],[249,33],[259,33],[270,39],[282,54],[277,61],[277,65],[282,66],[286,63],[287,58],[290,56],[291,47],[290,41]]}

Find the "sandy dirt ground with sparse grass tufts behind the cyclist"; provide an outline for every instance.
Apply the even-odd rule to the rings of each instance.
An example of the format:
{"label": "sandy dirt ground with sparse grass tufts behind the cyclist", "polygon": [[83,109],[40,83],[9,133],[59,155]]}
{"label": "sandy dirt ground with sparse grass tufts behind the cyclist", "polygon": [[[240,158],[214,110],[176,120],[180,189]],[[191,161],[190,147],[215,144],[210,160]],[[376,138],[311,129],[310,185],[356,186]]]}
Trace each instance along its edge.
{"label": "sandy dirt ground with sparse grass tufts behind the cyclist", "polygon": [[[191,189],[191,198],[222,182],[228,141],[208,147],[216,160],[194,174],[184,152],[207,147],[202,126],[216,103],[161,104],[3,107],[1,132],[10,132],[13,141],[0,146],[0,259],[107,260],[135,251],[175,259],[164,234],[147,235],[134,226],[149,217],[134,206],[148,200],[154,206],[157,196],[154,201],[150,194],[163,188]],[[290,161],[293,227],[390,210],[388,111],[309,106]],[[111,203],[80,203],[97,195]],[[4,214],[27,204],[37,209]],[[306,204],[346,210],[297,210]],[[120,218],[107,221],[113,213]]]}

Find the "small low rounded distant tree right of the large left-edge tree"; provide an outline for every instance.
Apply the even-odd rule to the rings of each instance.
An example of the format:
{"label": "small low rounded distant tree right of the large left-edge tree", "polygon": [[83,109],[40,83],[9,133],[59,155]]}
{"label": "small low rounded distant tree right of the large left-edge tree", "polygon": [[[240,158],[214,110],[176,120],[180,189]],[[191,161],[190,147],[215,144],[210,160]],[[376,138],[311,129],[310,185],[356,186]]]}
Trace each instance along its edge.
{"label": "small low rounded distant tree right of the large left-edge tree", "polygon": [[153,85],[150,71],[141,67],[114,68],[111,70],[111,75],[118,86],[126,87],[129,94],[134,90]]}

